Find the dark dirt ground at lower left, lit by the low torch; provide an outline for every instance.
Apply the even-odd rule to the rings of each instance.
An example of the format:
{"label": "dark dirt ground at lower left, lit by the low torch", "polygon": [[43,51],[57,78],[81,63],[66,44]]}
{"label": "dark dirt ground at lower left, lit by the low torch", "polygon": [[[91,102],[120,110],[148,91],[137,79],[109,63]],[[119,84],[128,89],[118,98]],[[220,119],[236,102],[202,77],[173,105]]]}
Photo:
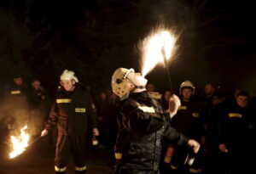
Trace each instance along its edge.
{"label": "dark dirt ground at lower left, lit by the low torch", "polygon": [[[54,144],[49,145],[47,138],[40,138],[33,143],[23,154],[15,159],[8,158],[8,150],[0,146],[0,173],[1,174],[54,174]],[[88,174],[111,174],[113,157],[106,150],[88,149],[86,153]],[[67,174],[74,173],[73,158],[67,166]]]}

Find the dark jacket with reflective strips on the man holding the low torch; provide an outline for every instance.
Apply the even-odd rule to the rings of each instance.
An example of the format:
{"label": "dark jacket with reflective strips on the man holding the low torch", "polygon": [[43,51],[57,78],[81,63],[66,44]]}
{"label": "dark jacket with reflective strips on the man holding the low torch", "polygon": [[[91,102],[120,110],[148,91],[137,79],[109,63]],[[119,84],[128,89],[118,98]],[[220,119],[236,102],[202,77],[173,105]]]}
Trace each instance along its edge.
{"label": "dark jacket with reflective strips on the man holding the low torch", "polygon": [[83,135],[89,122],[96,128],[96,107],[90,94],[76,87],[73,93],[61,90],[56,94],[46,130],[57,125],[59,135]]}

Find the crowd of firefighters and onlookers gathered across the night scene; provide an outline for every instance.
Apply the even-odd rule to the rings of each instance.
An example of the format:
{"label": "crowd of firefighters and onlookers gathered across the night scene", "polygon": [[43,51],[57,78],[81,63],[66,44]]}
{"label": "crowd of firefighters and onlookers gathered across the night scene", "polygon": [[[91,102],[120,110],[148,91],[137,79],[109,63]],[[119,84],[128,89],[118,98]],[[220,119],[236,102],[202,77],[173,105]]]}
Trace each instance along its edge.
{"label": "crowd of firefighters and onlookers gathered across the night scene", "polygon": [[[197,96],[196,81],[183,81],[176,95],[169,89],[158,92],[157,85],[127,69],[113,77],[113,92],[95,93],[73,71],[64,70],[55,98],[49,98],[39,79],[26,87],[24,77],[15,76],[1,93],[1,143],[25,123],[34,138],[56,126],[56,173],[65,173],[67,151],[73,152],[76,173],[86,172],[86,134],[96,136],[98,149],[115,154],[116,173],[253,170],[255,97],[241,90],[230,97],[212,83]],[[195,150],[197,143],[200,149]]]}

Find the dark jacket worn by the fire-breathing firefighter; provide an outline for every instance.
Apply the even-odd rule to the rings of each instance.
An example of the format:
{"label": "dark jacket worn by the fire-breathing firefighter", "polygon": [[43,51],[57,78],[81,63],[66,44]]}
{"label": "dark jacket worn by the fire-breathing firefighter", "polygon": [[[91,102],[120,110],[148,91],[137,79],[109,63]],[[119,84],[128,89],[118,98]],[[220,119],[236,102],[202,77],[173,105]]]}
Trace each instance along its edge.
{"label": "dark jacket worn by the fire-breathing firefighter", "polygon": [[147,92],[131,93],[120,104],[119,134],[115,152],[122,154],[123,169],[158,171],[161,138],[187,144],[188,138],[177,133],[154,106]]}

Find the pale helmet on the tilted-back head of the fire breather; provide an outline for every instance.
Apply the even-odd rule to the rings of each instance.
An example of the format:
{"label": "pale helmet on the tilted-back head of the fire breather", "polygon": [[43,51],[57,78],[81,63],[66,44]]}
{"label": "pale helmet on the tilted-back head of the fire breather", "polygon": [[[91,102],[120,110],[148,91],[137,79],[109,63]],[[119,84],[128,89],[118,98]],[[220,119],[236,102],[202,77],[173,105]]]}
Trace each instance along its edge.
{"label": "pale helmet on the tilted-back head of the fire breather", "polygon": [[130,86],[126,77],[131,72],[134,72],[132,68],[130,70],[119,68],[113,72],[111,81],[112,91],[118,95],[121,100],[128,98],[129,96]]}

